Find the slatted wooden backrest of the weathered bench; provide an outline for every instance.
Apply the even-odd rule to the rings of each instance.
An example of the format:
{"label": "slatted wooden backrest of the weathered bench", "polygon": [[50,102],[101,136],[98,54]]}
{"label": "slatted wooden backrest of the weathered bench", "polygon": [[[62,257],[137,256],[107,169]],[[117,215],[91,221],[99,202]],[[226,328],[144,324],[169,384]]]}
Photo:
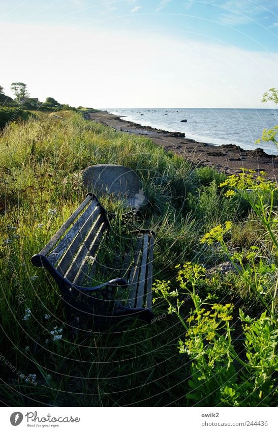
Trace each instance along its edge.
{"label": "slatted wooden backrest of the weathered bench", "polygon": [[82,285],[94,267],[94,256],[109,229],[105,209],[89,193],[47,245],[32,257],[41,267],[46,257],[58,274],[75,285]]}

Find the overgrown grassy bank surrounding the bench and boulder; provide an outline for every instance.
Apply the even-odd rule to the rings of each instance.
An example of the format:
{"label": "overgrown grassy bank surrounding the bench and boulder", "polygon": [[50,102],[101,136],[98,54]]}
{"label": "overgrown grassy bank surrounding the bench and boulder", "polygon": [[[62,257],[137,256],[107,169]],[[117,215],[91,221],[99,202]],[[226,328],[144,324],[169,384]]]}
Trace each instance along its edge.
{"label": "overgrown grassy bank surrounding the bench and boulder", "polygon": [[[175,314],[168,314],[166,295],[158,295],[154,305],[158,318],[151,325],[134,323],[107,333],[81,331],[73,341],[56,285],[30,264],[30,257],[83,199],[76,176],[80,169],[99,163],[128,166],[137,172],[149,198],[144,221],[138,223],[157,233],[154,279],[169,280],[171,290],[179,291],[177,265],[215,266],[227,261],[227,251],[219,243],[200,243],[206,232],[227,220],[233,222],[224,238],[229,251],[248,251],[255,246],[259,253],[254,265],[259,266],[260,256],[269,266],[273,264],[274,270],[265,267],[262,272],[263,293],[250,289],[249,282],[258,277],[256,272],[249,282],[230,271],[201,278],[199,284],[200,297],[210,295],[219,303],[234,304],[236,349],[239,357],[245,357],[239,308],[257,318],[265,310],[264,302],[271,302],[275,285],[277,251],[264,224],[244,194],[225,196],[227,186],[219,187],[226,180],[223,174],[210,168],[195,169],[148,138],[85,121],[78,113],[63,112],[61,116],[67,121],[38,112],[36,119],[9,124],[0,137],[3,404],[231,405],[228,396],[226,401],[215,398],[215,389],[206,399],[201,393],[195,399],[188,397],[194,375],[192,356],[179,354],[184,326]],[[120,203],[109,197],[103,204],[108,210],[121,211]],[[275,205],[276,195],[273,212]],[[184,292],[181,296],[180,313],[186,317],[194,299]],[[53,340],[53,335],[63,337]],[[254,387],[255,381],[252,384]],[[242,406],[270,406],[275,403],[275,391],[274,386],[266,391],[267,398],[257,397],[255,391],[254,399],[238,396],[237,400]]]}

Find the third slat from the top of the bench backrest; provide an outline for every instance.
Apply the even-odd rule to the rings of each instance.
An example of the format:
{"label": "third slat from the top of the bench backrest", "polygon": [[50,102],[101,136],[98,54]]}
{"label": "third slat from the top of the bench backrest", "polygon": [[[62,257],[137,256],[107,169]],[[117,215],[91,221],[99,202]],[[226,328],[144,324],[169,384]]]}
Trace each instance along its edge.
{"label": "third slat from the top of the bench backrest", "polygon": [[86,222],[80,227],[77,236],[74,238],[72,243],[69,245],[66,253],[61,258],[58,266],[57,271],[59,271],[61,274],[65,274],[67,269],[70,266],[70,263],[74,260],[75,255],[77,251],[79,250],[80,245],[82,245],[88,235],[88,232],[91,230],[91,227],[96,227],[98,229],[101,221],[101,210],[100,207],[96,207],[94,212],[89,215]]}

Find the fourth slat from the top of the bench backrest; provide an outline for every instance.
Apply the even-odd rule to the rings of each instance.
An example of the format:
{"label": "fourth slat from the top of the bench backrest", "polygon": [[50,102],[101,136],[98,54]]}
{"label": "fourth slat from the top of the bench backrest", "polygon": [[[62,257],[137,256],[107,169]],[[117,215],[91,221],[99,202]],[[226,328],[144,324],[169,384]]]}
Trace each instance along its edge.
{"label": "fourth slat from the top of the bench backrest", "polygon": [[[100,225],[101,223],[101,225]],[[77,251],[72,263],[70,264],[67,272],[65,273],[65,277],[73,282],[80,266],[81,263],[83,262],[86,253],[90,247],[91,242],[95,239],[95,241],[97,241],[97,239],[99,238],[99,240],[101,240],[102,237],[102,233],[104,231],[104,229],[106,229],[107,225],[106,225],[106,221],[103,221],[101,219],[101,215],[98,216],[98,220],[92,225],[90,231],[88,232],[88,235],[86,237],[86,239],[83,241],[83,243],[81,244],[79,250]]]}

